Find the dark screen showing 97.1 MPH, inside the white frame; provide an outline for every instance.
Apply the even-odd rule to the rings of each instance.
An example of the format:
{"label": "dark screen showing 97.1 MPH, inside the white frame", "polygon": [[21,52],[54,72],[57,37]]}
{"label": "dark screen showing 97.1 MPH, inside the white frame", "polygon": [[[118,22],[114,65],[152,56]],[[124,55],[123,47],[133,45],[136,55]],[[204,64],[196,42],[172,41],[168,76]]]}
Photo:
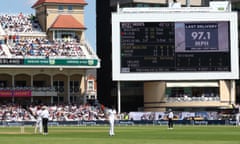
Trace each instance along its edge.
{"label": "dark screen showing 97.1 MPH, inside the white frame", "polygon": [[229,22],[121,22],[121,72],[231,71]]}

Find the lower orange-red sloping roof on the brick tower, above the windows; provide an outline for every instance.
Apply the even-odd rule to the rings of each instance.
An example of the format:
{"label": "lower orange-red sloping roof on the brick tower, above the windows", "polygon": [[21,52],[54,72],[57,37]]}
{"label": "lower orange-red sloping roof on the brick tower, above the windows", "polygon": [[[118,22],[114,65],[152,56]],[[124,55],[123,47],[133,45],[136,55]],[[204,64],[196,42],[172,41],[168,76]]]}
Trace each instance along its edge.
{"label": "lower orange-red sloping roof on the brick tower, above the windows", "polygon": [[51,29],[86,29],[82,23],[71,15],[59,15],[50,27]]}

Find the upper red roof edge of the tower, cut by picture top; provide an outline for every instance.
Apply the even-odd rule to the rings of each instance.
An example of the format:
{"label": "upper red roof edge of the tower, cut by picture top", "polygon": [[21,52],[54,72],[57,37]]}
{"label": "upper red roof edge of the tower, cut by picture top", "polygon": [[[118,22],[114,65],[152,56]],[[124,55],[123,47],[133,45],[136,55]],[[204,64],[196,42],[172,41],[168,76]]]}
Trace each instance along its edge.
{"label": "upper red roof edge of the tower, cut by picture top", "polygon": [[37,7],[43,3],[57,3],[57,4],[82,4],[87,5],[85,0],[37,0],[32,8]]}

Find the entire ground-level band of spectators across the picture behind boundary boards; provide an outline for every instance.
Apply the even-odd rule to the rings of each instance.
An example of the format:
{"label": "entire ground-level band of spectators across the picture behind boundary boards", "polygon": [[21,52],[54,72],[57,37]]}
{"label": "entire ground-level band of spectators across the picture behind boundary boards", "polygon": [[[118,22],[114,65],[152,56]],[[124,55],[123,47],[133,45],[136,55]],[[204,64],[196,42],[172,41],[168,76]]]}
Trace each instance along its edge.
{"label": "entire ground-level band of spectators across the picture behind boundary boards", "polygon": [[[21,105],[21,104],[1,104],[0,121],[4,122],[35,122],[38,108],[46,105]],[[53,122],[59,121],[105,121],[107,120],[107,108],[99,103],[95,104],[53,104],[47,106]],[[233,110],[236,110],[233,112]],[[228,110],[213,111],[174,111],[175,120],[223,120],[231,119],[235,113],[239,113],[240,107]],[[118,114],[118,120],[167,120],[166,112],[123,112]]]}

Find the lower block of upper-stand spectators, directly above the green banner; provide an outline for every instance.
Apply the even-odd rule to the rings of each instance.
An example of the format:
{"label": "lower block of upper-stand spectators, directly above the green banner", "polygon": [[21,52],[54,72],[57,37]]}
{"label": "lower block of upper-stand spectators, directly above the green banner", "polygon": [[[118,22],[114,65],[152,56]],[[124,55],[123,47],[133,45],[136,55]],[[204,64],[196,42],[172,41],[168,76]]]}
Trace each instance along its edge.
{"label": "lower block of upper-stand spectators, directly above the green banner", "polygon": [[76,41],[62,42],[47,39],[18,40],[10,46],[13,56],[44,56],[48,57],[85,57],[81,45]]}

